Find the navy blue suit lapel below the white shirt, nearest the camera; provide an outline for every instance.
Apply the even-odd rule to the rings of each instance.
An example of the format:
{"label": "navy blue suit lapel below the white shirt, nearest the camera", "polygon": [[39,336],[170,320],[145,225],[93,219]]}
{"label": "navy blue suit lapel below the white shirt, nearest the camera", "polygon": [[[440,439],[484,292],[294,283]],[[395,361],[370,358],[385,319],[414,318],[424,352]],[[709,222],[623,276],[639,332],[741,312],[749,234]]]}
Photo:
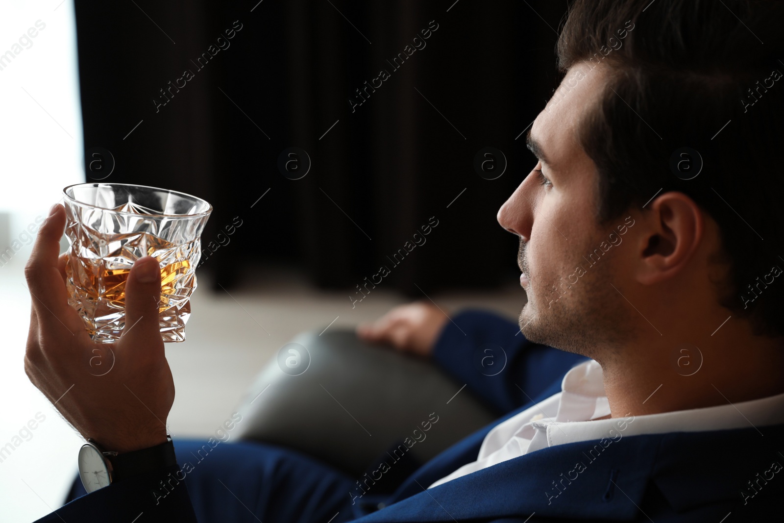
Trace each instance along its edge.
{"label": "navy blue suit lapel below the white shirt, nearest the camera", "polygon": [[606,448],[581,441],[542,449],[429,490],[417,485],[418,493],[360,521],[525,518],[534,512],[550,518],[633,519],[661,438],[623,438]]}

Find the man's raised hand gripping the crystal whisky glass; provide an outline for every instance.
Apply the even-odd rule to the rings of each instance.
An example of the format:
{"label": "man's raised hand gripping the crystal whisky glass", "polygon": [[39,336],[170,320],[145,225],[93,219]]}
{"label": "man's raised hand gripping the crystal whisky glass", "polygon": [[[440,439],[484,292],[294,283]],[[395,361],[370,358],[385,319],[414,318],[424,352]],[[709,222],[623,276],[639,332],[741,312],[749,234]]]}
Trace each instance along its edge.
{"label": "man's raised hand gripping the crystal whisky glass", "polygon": [[116,343],[90,340],[68,305],[67,255],[58,257],[65,209],[55,205],[25,267],[32,314],[24,370],[85,438],[130,452],[166,441],[174,382],[158,326],[161,272],[136,260],[125,283],[125,329]]}

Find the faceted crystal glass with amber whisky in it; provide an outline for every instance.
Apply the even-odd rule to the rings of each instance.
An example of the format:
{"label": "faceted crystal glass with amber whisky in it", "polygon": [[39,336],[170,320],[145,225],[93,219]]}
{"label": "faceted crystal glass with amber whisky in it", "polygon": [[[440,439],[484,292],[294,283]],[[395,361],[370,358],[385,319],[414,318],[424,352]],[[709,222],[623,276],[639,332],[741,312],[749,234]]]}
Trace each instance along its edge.
{"label": "faceted crystal glass with amber whisky in it", "polygon": [[125,183],[65,187],[68,303],[90,337],[117,341],[125,325],[125,281],[133,262],[153,256],[161,267],[158,303],[165,342],[185,340],[201,257],[201,231],[212,205],[189,194]]}

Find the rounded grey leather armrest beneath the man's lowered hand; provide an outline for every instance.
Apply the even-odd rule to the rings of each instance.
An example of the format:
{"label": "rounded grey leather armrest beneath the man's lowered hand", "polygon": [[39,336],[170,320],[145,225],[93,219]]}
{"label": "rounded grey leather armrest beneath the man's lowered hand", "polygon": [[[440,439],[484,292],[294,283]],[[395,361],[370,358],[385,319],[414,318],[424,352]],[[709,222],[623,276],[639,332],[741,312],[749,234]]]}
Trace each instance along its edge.
{"label": "rounded grey leather armrest beneath the man's lowered hand", "polygon": [[240,438],[361,475],[405,438],[424,462],[495,419],[429,361],[368,345],[353,330],[303,332],[292,343],[301,347],[281,347],[241,401]]}

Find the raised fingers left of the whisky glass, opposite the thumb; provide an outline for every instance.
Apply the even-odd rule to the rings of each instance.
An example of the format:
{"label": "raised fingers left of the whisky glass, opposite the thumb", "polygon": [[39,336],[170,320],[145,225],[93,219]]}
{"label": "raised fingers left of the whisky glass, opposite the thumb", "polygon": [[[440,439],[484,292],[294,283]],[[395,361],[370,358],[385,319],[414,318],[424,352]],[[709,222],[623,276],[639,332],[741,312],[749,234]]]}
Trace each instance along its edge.
{"label": "raised fingers left of the whisky glass, opposite the thumb", "polygon": [[35,245],[24,267],[27,287],[30,289],[33,308],[38,314],[46,311],[63,321],[67,318],[67,292],[60,273],[60,238],[65,228],[65,209],[54,205],[49,218],[38,230]]}

